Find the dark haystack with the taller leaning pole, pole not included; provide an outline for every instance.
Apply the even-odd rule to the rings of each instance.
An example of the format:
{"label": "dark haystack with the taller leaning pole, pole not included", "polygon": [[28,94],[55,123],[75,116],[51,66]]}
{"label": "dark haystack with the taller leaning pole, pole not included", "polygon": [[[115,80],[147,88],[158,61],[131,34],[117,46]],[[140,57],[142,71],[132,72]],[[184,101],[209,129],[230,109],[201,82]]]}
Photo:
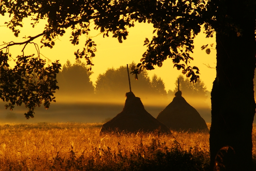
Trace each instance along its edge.
{"label": "dark haystack with the taller leaning pole, pole not included", "polygon": [[156,118],[150,115],[144,108],[139,97],[135,97],[132,92],[125,94],[126,100],[122,112],[113,119],[103,124],[100,134],[105,132],[132,132],[138,131],[153,132],[160,129],[161,132],[170,132],[170,130]]}

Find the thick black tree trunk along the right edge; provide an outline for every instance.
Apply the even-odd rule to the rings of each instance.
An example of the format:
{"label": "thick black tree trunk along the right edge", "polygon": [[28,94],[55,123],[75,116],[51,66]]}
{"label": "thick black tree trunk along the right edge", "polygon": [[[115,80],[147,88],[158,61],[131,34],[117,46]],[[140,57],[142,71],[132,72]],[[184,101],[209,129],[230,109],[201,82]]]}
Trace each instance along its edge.
{"label": "thick black tree trunk along the right edge", "polygon": [[[217,75],[211,93],[212,169],[216,167],[216,162],[217,167],[223,164],[225,170],[252,169],[252,123],[255,114],[253,91],[256,55],[255,19],[243,18],[246,8],[243,8],[240,2],[238,0],[227,2],[230,8],[227,8],[227,15],[237,19],[237,23],[243,30],[242,36],[238,36],[239,34],[237,35],[234,30],[223,33],[216,29]],[[225,146],[229,149],[220,150]]]}

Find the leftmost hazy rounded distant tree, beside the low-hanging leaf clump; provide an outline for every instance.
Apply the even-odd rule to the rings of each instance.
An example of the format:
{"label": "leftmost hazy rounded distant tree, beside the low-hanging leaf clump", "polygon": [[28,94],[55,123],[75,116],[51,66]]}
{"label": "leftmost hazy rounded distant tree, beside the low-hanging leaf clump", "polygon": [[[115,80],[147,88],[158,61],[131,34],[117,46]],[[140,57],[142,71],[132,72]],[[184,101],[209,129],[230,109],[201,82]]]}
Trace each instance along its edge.
{"label": "leftmost hazy rounded distant tree, beside the low-hanging leaf clump", "polygon": [[85,63],[80,60],[72,65],[68,60],[62,71],[57,75],[60,90],[59,95],[78,95],[90,97],[94,94],[94,86],[90,80],[92,71],[88,71]]}

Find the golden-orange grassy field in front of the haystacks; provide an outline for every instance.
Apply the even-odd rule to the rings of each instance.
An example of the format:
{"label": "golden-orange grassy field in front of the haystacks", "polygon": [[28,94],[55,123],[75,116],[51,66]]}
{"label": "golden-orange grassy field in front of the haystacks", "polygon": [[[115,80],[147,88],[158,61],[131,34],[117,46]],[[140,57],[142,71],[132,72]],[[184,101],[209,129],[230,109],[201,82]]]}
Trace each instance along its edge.
{"label": "golden-orange grassy field in front of the haystacks", "polygon": [[[101,125],[1,124],[0,170],[209,170],[208,132],[100,136]],[[255,127],[252,138],[255,158]]]}

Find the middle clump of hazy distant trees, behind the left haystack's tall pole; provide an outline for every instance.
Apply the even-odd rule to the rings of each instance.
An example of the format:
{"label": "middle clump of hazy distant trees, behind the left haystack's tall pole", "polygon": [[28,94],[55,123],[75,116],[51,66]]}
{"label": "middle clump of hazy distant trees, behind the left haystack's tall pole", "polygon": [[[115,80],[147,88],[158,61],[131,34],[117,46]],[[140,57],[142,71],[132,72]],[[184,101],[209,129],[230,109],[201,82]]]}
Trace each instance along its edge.
{"label": "middle clump of hazy distant trees, behind the left haystack's tall pole", "polygon": [[[129,70],[134,68],[135,63],[129,64]],[[164,82],[161,78],[153,75],[149,78],[147,71],[142,71],[138,75],[138,80],[131,79],[132,92],[138,94],[142,99],[166,100]],[[128,77],[126,66],[120,66],[117,69],[109,68],[105,73],[99,74],[96,80],[95,93],[104,98],[122,98],[124,92],[129,91]]]}

